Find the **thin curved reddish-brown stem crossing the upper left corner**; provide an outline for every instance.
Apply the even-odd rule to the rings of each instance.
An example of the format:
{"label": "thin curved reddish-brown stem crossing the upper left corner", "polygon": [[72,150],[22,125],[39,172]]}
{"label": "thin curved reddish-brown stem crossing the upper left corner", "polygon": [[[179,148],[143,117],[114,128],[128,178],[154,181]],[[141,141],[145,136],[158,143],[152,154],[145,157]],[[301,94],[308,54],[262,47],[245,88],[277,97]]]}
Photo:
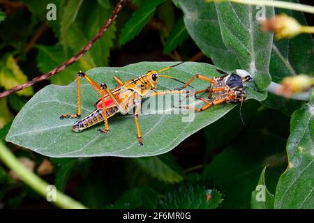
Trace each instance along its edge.
{"label": "thin curved reddish-brown stem crossing the upper left corner", "polygon": [[0,93],[0,98],[4,98],[12,93],[15,93],[17,91],[21,91],[22,89],[26,89],[29,86],[33,86],[33,84],[36,84],[38,82],[43,81],[44,79],[47,79],[49,77],[52,77],[53,75],[56,75],[58,72],[61,72],[62,70],[66,69],[66,67],[70,66],[72,63],[77,61],[78,59],[81,58],[93,45],[96,43],[97,40],[100,39],[101,36],[107,31],[108,27],[112,24],[112,22],[117,18],[117,15],[121,11],[122,7],[124,6],[124,3],[126,3],[127,0],[120,0],[119,3],[117,3],[117,6],[114,8],[114,11],[112,12],[111,17],[107,20],[107,22],[103,25],[103,27],[96,33],[96,35],[89,40],[89,43],[85,45],[80,52],[78,52],[75,56],[72,56],[68,61],[65,61],[64,63],[61,64],[61,66],[54,68],[53,70],[50,70],[49,72],[46,72],[43,75],[40,75],[38,77],[35,77],[31,81],[20,84],[18,86],[13,87],[12,89],[8,89],[6,91],[3,91]]}

